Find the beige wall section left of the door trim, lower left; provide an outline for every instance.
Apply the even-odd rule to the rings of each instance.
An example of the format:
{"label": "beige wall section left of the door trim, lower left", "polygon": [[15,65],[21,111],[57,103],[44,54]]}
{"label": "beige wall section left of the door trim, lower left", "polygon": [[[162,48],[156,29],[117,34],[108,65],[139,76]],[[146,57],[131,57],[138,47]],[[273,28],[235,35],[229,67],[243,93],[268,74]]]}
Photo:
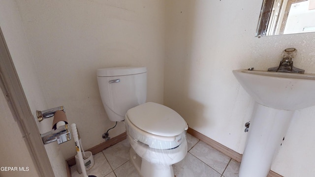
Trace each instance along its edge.
{"label": "beige wall section left of the door trim, lower left", "polygon": [[[0,176],[39,177],[17,122],[0,89]],[[5,169],[5,167],[7,169]],[[8,168],[12,168],[11,169]],[[16,167],[16,169],[14,169]]]}

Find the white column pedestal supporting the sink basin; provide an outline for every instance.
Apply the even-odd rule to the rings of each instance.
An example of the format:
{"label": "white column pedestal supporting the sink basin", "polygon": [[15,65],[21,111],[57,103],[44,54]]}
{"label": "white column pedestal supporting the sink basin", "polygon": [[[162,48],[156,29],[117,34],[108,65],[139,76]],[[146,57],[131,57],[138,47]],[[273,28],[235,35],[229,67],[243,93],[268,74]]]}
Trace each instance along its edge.
{"label": "white column pedestal supporting the sink basin", "polygon": [[293,113],[255,103],[239,177],[267,177]]}

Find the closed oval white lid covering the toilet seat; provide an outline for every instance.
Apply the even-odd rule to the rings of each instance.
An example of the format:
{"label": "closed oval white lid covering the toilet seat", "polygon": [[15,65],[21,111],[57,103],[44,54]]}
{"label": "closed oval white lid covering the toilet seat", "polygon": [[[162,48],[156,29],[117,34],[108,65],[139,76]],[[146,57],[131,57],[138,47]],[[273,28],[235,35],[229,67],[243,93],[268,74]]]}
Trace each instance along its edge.
{"label": "closed oval white lid covering the toilet seat", "polygon": [[188,129],[184,118],[164,105],[147,102],[131,108],[126,116],[138,128],[159,136],[177,136]]}

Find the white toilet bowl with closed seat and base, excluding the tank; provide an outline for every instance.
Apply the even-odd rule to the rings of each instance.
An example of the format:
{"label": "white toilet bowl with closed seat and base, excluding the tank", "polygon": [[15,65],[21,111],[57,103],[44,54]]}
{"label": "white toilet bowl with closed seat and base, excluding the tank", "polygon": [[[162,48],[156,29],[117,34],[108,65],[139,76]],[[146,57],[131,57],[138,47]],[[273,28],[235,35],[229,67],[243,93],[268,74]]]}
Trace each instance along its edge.
{"label": "white toilet bowl with closed seat and base, excluding the tank", "polygon": [[143,177],[174,177],[172,165],[187,154],[186,121],[166,106],[147,102],[129,109],[125,123],[137,171]]}

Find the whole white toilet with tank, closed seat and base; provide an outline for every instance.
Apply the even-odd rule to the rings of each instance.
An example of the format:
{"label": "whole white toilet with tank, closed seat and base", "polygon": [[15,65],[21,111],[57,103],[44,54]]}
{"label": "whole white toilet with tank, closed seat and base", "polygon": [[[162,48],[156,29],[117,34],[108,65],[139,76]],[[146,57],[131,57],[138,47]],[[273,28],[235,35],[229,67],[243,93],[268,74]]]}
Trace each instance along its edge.
{"label": "whole white toilet with tank, closed seat and base", "polygon": [[187,154],[186,121],[174,110],[146,102],[146,67],[97,69],[102,103],[111,121],[124,121],[130,161],[141,177],[174,177]]}

